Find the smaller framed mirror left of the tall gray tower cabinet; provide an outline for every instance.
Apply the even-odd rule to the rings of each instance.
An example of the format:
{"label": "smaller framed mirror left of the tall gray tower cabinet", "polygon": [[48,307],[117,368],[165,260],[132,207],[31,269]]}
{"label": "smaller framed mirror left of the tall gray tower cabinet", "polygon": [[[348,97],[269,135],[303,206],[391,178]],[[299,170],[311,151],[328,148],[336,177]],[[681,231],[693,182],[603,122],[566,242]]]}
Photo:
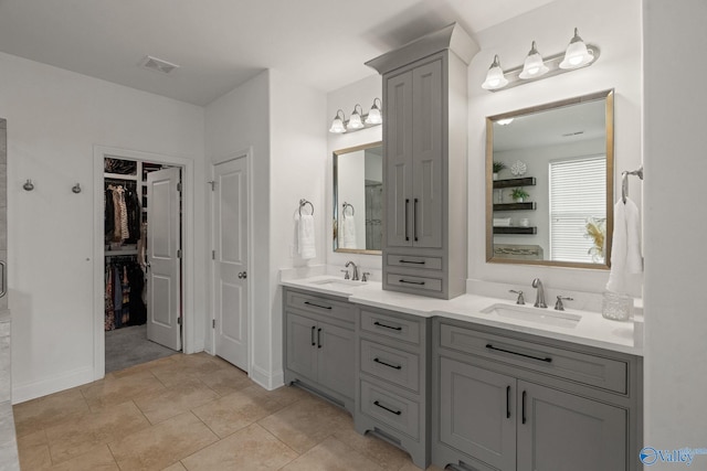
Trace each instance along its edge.
{"label": "smaller framed mirror left of the tall gray tower cabinet", "polygon": [[334,251],[380,255],[383,143],[334,151]]}

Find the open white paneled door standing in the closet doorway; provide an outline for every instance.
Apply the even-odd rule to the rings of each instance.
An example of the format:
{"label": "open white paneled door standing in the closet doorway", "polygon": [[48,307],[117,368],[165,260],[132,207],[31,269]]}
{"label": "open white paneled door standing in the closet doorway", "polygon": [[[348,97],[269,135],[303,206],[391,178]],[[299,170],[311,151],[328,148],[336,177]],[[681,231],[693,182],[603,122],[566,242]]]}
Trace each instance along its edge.
{"label": "open white paneled door standing in the closet doorway", "polygon": [[180,169],[147,174],[147,338],[181,350]]}

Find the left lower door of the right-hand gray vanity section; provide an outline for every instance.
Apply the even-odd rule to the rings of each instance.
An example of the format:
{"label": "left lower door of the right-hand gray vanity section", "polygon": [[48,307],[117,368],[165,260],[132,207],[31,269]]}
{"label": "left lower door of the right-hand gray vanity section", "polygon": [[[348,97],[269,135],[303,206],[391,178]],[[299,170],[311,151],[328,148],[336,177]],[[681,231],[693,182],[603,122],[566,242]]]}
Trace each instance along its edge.
{"label": "left lower door of the right-hand gray vanity section", "polygon": [[499,470],[516,467],[516,379],[440,357],[440,440]]}

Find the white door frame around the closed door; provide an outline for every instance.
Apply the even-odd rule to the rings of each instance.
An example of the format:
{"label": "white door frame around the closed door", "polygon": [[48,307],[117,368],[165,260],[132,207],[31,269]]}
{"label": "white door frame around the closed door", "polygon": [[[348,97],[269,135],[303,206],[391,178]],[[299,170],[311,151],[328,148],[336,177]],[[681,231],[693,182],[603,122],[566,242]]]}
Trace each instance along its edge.
{"label": "white door frame around the closed door", "polygon": [[[249,377],[251,376],[251,372],[253,370],[253,244],[255,242],[255,233],[253,227],[253,148],[249,147],[246,149],[240,150],[238,152],[232,152],[223,157],[217,157],[211,161],[211,169],[209,171],[209,178],[211,181],[214,181],[215,178],[215,165],[225,163],[231,160],[236,159],[245,159],[245,171],[247,172],[246,182],[247,182],[247,206],[246,206],[246,221],[247,221],[247,244],[246,244],[246,263],[247,263],[247,279],[250,280],[246,283],[246,292],[247,292],[247,306],[245,308],[247,315],[247,373]],[[213,232],[213,210],[214,210],[214,191],[210,191],[209,195],[209,251],[215,249],[215,234]],[[213,300],[215,299],[215,277],[214,277],[214,263],[215,260],[211,259],[209,266],[209,283],[211,289],[209,290],[209,319],[210,324],[213,325],[213,321],[215,320],[215,307],[213,306]],[[217,355],[217,332],[215,329],[211,328],[211,354]]]}

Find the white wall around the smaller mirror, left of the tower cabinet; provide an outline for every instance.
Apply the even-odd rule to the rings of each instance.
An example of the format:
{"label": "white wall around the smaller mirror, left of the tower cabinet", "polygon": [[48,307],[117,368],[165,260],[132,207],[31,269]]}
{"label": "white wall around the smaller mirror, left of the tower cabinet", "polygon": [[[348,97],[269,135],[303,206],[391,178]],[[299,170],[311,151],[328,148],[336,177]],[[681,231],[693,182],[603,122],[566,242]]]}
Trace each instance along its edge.
{"label": "white wall around the smaller mirror, left of the tower cabinet", "polygon": [[[372,58],[372,57],[371,57]],[[327,95],[327,122],[325,124],[325,130],[329,129],[331,125],[331,120],[336,115],[337,109],[344,110],[347,119],[351,115],[354,107],[358,104],[361,105],[363,109],[363,114],[367,114],[368,110],[373,105],[374,98],[382,99],[382,78],[381,76],[371,71],[371,76],[366,77],[361,81],[355,82],[350,85],[347,85],[342,88],[339,88],[335,92],[331,92]],[[386,117],[383,116],[383,120]],[[382,126],[374,126],[372,128],[362,129],[360,131],[347,132],[344,135],[334,135],[331,132],[327,132],[328,141],[327,141],[327,160],[326,160],[326,211],[327,215],[327,227],[326,234],[333,234],[331,221],[333,221],[333,202],[334,202],[334,158],[333,153],[335,150],[339,149],[348,149],[350,147],[360,146],[370,142],[378,142],[382,140]],[[358,211],[358,208],[357,208]],[[344,269],[344,265],[348,260],[354,260],[356,265],[359,266],[359,272],[377,270],[380,271],[382,269],[381,265],[381,256],[380,255],[363,255],[363,254],[339,254],[334,251],[334,245],[331,244],[330,237],[327,238],[327,264],[334,265],[336,267],[341,267]],[[373,277],[376,281],[380,281],[380,279],[376,279],[376,272]]]}

